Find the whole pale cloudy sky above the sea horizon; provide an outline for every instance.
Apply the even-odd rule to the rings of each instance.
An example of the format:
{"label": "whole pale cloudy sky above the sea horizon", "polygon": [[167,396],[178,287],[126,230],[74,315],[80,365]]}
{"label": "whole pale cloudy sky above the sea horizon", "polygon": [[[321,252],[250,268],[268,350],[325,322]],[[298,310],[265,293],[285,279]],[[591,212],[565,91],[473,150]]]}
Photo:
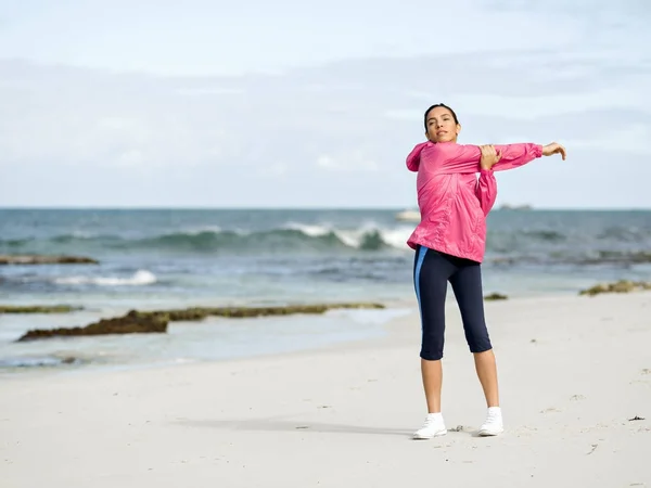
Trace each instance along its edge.
{"label": "whole pale cloudy sky above the sea horizon", "polygon": [[422,114],[558,141],[499,204],[650,208],[644,0],[0,2],[0,206],[416,206]]}

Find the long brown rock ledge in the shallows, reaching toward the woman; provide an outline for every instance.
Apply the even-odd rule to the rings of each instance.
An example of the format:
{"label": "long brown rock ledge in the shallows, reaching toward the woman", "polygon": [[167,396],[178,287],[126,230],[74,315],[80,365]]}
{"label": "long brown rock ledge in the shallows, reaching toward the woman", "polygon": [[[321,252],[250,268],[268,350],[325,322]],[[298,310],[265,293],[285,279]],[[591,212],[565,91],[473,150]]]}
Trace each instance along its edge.
{"label": "long brown rock ledge in the shallows, reaching toward the woman", "polygon": [[176,310],[131,310],[124,317],[104,319],[85,328],[36,329],[28,331],[18,342],[60,336],[135,334],[167,332],[169,322],[197,321],[206,317],[226,317],[233,319],[296,313],[324,313],[335,308],[384,308],[382,304],[318,304],[289,305],[280,307],[195,307]]}

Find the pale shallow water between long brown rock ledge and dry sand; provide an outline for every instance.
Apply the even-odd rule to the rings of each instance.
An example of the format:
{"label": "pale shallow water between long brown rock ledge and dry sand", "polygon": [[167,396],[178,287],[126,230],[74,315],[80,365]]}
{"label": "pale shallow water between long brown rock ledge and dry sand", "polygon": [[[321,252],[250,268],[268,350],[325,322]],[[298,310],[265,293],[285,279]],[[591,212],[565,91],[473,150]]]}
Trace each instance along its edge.
{"label": "pale shallow water between long brown rock ledge and dry sand", "polygon": [[[297,313],[243,319],[207,317],[202,321],[170,323],[169,331],[164,334],[62,336],[26,343],[12,342],[8,345],[7,350],[12,350],[12,346],[15,346],[16,348],[26,347],[31,348],[31,350],[43,350],[44,352],[20,352],[11,359],[23,358],[26,362],[29,362],[34,359],[47,360],[47,358],[52,358],[54,360],[55,358],[67,358],[68,361],[58,364],[48,364],[51,361],[43,361],[46,362],[44,365],[2,368],[0,369],[0,378],[15,377],[20,380],[27,376],[139,371],[316,351],[339,347],[342,344],[372,341],[378,336],[382,336],[386,334],[388,323],[399,320],[396,317],[399,318],[409,313],[408,307],[404,303],[392,303],[381,309],[334,308],[322,314]],[[203,355],[194,352],[193,356],[191,352],[192,344],[190,344],[190,349],[182,344],[177,344],[187,342],[186,336],[196,334],[196,331],[200,331],[206,339],[214,341],[215,349],[217,349],[217,352],[213,352],[215,357],[206,357],[206,355],[209,356],[208,352]],[[231,333],[238,333],[239,335],[224,337],[222,333],[225,331],[231,331]],[[259,339],[256,343],[256,336],[259,334],[269,336],[275,333],[278,334],[278,341],[273,345],[260,349]],[[252,339],[247,339],[247,336]],[[293,338],[295,338],[295,342],[292,342]],[[248,351],[224,351],[229,345],[237,346],[241,339],[252,343]],[[220,341],[224,341],[224,344]],[[115,344],[117,346],[114,346]],[[149,344],[146,348],[165,347],[175,349],[174,344],[177,344],[177,347],[173,351],[174,354],[169,352],[166,356],[138,356],[138,344]],[[50,348],[49,352],[48,348]],[[107,350],[113,350],[118,356],[122,355],[123,360],[111,360]],[[100,351],[99,355],[98,351]],[[133,352],[135,356],[129,356],[129,352]],[[79,359],[81,363],[73,361],[73,358]]]}

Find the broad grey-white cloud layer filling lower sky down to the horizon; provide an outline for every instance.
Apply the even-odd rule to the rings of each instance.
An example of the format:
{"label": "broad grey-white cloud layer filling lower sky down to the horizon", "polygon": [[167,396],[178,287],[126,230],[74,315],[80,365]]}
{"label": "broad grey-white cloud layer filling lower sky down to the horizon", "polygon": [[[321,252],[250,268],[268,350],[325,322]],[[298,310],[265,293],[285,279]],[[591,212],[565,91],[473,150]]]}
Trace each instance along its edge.
{"label": "broad grey-white cloud layer filling lower sky down to the horizon", "polygon": [[500,175],[500,198],[627,205],[637,181],[603,177],[601,200],[583,182],[613,159],[648,175],[649,61],[509,49],[192,77],[0,61],[0,205],[412,206],[405,156],[441,101],[461,142],[566,144],[564,166]]}

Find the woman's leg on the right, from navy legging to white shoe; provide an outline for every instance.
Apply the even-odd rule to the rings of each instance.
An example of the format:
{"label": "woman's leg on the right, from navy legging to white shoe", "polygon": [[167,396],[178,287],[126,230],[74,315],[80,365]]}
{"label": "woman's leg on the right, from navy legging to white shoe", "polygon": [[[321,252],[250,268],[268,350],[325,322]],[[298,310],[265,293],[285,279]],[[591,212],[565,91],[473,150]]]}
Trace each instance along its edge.
{"label": "woman's leg on the right, from navy legging to white shoe", "polygon": [[499,409],[497,365],[484,317],[481,265],[465,260],[452,274],[450,283],[459,304],[465,339],[474,355],[475,370],[488,407],[488,419],[480,429],[480,434],[499,434],[502,431],[502,421]]}

